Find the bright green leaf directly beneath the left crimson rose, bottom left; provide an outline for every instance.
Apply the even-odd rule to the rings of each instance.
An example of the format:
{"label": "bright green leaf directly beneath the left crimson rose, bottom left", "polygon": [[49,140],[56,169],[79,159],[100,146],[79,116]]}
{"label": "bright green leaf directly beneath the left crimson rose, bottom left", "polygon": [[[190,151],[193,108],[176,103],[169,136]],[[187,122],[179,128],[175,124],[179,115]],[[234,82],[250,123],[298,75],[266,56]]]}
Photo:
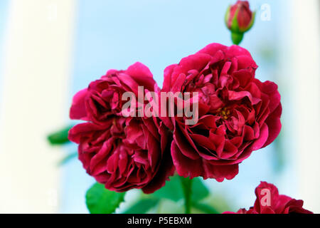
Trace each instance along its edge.
{"label": "bright green leaf directly beneath the left crimson rose, bottom left", "polygon": [[124,201],[124,195],[125,192],[112,192],[95,183],[85,195],[87,209],[91,214],[112,214]]}

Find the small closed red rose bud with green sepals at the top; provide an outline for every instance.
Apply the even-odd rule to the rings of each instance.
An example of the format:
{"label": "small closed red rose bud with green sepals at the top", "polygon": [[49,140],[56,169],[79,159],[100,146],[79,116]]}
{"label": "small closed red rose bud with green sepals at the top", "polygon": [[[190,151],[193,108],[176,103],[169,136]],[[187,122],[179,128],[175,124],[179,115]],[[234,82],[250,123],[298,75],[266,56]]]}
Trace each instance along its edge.
{"label": "small closed red rose bud with green sepals at the top", "polygon": [[242,41],[244,33],[252,28],[255,22],[255,12],[250,10],[248,1],[237,1],[236,4],[229,6],[225,14],[225,24],[231,31],[234,44]]}

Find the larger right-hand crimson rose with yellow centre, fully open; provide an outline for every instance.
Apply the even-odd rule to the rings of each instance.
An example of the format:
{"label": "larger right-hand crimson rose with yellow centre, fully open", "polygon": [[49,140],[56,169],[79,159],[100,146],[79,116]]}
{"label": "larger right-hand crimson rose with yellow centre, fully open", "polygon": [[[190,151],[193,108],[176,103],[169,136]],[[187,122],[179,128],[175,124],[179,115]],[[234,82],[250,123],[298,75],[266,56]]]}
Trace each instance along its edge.
{"label": "larger right-hand crimson rose with yellow centre, fully open", "polygon": [[212,43],[164,71],[162,91],[198,92],[199,120],[163,118],[174,130],[171,155],[178,175],[215,178],[238,174],[238,164],[280,132],[277,85],[255,78],[257,65],[239,46]]}

